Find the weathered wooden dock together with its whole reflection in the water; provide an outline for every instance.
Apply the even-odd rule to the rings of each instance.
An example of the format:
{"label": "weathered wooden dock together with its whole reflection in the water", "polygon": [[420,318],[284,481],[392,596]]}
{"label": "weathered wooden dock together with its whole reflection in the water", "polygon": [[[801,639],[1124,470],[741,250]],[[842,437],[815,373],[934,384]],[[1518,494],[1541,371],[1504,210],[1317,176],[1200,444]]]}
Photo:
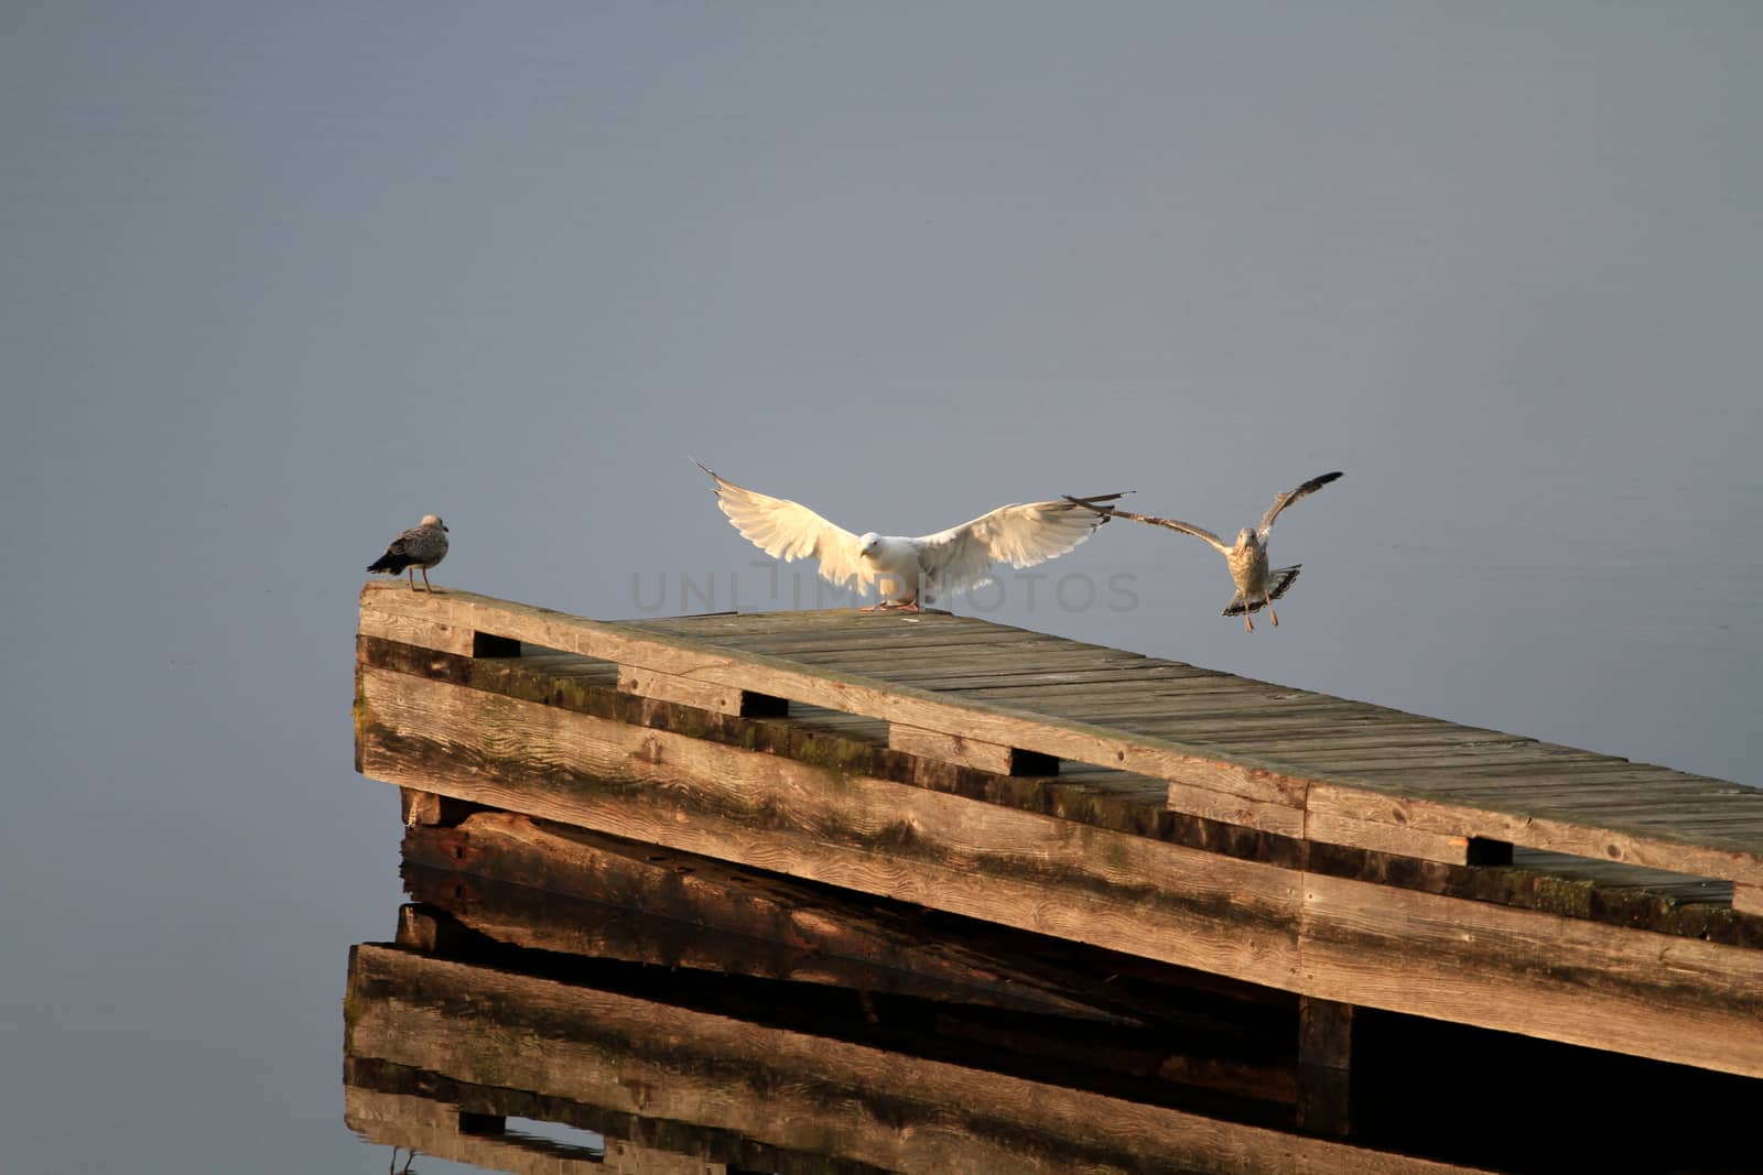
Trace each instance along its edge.
{"label": "weathered wooden dock together with its whole reflection in the water", "polygon": [[[358,662],[416,900],[351,957],[349,1120],[383,1142],[504,1170],[1749,1157],[1763,796],[1733,784],[952,617],[370,587]],[[1694,1133],[1599,1129],[1636,1090]],[[605,1164],[508,1117],[598,1131]]]}

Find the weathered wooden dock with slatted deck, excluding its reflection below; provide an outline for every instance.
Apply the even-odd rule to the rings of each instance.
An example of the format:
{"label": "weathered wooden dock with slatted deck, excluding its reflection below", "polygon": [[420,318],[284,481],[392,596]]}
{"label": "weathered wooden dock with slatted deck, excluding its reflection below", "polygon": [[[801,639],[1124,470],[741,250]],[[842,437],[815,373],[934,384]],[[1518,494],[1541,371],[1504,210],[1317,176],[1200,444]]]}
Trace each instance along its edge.
{"label": "weathered wooden dock with slatted deck, excluding its reflection below", "polygon": [[[1132,1016],[1081,965],[866,923],[871,895],[1215,976],[1245,1006],[1294,1001],[1312,1076],[1343,1076],[1354,1009],[1380,1009],[1763,1078],[1763,793],[1726,780],[966,617],[608,624],[379,583],[361,595],[356,756],[404,787],[418,872],[481,865],[677,914],[682,874],[580,839],[723,870],[703,884],[740,900],[723,902],[733,921],[695,923],[695,969],[813,983],[843,958],[853,990]],[[753,870],[857,905],[802,918]],[[508,923],[472,918],[490,937]],[[767,937],[788,948],[755,962]],[[525,932],[584,941],[652,950],[585,914]],[[1328,1080],[1232,1064],[1262,1103],[1310,1097],[1338,1133],[1313,1101]],[[1312,1166],[1382,1170],[1363,1157]]]}

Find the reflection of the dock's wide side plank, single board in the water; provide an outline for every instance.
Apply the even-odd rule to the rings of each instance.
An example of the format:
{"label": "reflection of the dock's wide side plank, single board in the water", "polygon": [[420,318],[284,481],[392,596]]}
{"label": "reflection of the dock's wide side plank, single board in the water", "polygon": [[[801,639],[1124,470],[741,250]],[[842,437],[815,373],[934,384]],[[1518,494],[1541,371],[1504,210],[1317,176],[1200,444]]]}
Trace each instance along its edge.
{"label": "reflection of the dock's wide side plank, single board in the water", "polygon": [[[495,1022],[460,1020],[462,1002]],[[347,1009],[351,1055],[883,1170],[1462,1170],[368,944]]]}

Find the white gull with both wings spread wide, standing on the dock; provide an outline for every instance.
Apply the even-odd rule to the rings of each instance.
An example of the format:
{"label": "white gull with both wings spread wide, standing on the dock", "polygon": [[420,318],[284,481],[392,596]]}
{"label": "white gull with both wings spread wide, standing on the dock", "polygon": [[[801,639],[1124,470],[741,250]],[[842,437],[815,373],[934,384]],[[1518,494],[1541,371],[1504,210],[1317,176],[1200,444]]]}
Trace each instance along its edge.
{"label": "white gull with both wings spread wide, standing on the dock", "polygon": [[919,611],[920,597],[991,583],[991,565],[1033,567],[1072,550],[1109,520],[1120,493],[1063,502],[1000,506],[973,521],[917,539],[874,530],[857,536],[830,523],[800,502],[744,490],[703,462],[698,469],[716,481],[716,504],[753,546],[793,562],[813,555],[820,576],[839,587],[867,592],[882,580],[882,599],[860,611],[899,608]]}

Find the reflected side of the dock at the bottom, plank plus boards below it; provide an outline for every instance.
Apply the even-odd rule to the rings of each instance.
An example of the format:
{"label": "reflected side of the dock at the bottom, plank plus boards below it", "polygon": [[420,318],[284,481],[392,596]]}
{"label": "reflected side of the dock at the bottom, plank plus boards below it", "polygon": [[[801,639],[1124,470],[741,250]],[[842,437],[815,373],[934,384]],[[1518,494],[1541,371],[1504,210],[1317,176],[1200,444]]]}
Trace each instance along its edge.
{"label": "reflected side of the dock at the bottom, plank plus boards below it", "polygon": [[[471,1105],[598,1127],[608,1163],[659,1134],[695,1171],[733,1156],[740,1170],[927,1175],[1477,1170],[395,946],[351,950],[346,1016],[354,1129],[510,1170],[584,1168],[517,1166],[531,1159],[513,1145],[453,1136],[450,1106],[453,1120]],[[675,1170],[643,1149],[631,1170]]]}

